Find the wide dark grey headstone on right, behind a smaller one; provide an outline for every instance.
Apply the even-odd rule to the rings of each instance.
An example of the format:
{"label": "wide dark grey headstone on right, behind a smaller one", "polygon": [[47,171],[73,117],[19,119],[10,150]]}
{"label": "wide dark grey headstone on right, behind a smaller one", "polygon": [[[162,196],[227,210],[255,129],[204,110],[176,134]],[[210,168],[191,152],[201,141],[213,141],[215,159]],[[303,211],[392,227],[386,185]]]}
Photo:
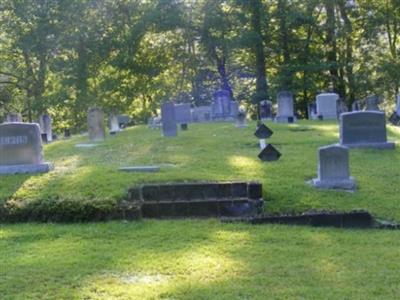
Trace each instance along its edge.
{"label": "wide dark grey headstone on right, behind a smaller one", "polygon": [[394,143],[387,141],[385,114],[378,111],[342,114],[340,144],[349,148],[395,148]]}

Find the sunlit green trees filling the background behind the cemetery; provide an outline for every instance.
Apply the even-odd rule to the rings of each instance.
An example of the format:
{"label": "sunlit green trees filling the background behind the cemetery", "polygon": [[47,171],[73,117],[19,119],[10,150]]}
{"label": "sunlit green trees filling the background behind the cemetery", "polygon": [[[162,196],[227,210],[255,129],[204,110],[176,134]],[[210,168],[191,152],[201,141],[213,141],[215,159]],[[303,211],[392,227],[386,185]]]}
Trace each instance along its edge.
{"label": "sunlit green trees filling the background behind the cemetery", "polygon": [[400,87],[400,0],[3,0],[0,115],[80,130],[90,106],[143,122],[224,88],[253,115],[280,90],[300,115]]}

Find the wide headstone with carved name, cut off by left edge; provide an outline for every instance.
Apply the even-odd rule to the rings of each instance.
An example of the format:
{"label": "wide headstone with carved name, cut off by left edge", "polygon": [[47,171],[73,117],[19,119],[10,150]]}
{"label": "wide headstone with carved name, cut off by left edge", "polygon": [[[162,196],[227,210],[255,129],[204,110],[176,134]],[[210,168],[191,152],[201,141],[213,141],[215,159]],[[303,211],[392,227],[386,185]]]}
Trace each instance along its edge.
{"label": "wide headstone with carved name, cut off by left edge", "polygon": [[43,161],[38,124],[0,125],[0,174],[45,173],[51,164]]}

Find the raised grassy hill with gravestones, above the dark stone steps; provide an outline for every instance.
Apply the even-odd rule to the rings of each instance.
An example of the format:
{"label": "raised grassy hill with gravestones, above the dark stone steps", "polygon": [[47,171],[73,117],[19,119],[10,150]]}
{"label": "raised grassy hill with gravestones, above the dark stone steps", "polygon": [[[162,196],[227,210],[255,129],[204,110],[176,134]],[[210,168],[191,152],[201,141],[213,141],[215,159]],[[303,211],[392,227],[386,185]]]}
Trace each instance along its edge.
{"label": "raised grassy hill with gravestones, above the dark stone steps", "polygon": [[[191,124],[177,138],[162,138],[158,130],[127,129],[95,148],[76,148],[87,137],[74,137],[45,147],[55,170],[44,175],[1,177],[0,215],[25,220],[85,220],[94,211],[111,211],[127,189],[143,182],[191,180],[258,180],[263,183],[267,212],[309,209],[368,209],[379,217],[400,221],[400,149],[351,150],[355,193],[319,191],[305,182],[316,176],[317,148],[338,141],[336,123],[303,121],[268,124],[270,142],[282,157],[262,163],[257,158],[255,124],[237,129],[231,123]],[[389,127],[398,141],[400,129]],[[160,173],[128,174],[123,166],[157,164]]]}

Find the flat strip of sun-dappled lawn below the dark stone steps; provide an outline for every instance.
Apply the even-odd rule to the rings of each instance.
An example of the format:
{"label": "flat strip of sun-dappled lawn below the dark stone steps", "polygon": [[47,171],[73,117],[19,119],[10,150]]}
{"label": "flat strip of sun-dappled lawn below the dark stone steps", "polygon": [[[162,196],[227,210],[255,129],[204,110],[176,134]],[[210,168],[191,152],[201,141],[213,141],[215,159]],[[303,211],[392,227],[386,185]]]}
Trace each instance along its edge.
{"label": "flat strip of sun-dappled lawn below the dark stone steps", "polygon": [[194,220],[8,226],[0,287],[10,298],[390,299],[399,235]]}

